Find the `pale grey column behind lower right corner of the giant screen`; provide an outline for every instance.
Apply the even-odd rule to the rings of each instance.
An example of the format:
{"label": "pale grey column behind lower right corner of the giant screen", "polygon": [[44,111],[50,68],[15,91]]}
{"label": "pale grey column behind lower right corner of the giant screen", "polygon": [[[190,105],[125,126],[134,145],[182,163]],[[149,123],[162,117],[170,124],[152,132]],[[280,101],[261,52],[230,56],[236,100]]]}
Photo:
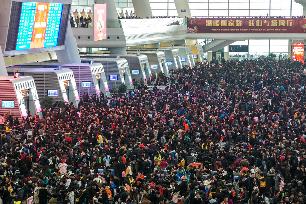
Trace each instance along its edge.
{"label": "pale grey column behind lower right corner of the giant screen", "polygon": [[67,27],[65,50],[55,51],[59,63],[81,63],[79,50],[76,45],[76,39],[73,36],[72,28]]}

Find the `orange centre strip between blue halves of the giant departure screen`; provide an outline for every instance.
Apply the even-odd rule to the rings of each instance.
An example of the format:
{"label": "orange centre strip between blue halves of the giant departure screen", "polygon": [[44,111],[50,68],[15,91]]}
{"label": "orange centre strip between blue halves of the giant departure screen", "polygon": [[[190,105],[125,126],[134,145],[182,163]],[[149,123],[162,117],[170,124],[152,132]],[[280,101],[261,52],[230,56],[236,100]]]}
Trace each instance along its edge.
{"label": "orange centre strip between blue halves of the giant departure screen", "polygon": [[36,4],[30,49],[44,47],[49,7],[50,3]]}

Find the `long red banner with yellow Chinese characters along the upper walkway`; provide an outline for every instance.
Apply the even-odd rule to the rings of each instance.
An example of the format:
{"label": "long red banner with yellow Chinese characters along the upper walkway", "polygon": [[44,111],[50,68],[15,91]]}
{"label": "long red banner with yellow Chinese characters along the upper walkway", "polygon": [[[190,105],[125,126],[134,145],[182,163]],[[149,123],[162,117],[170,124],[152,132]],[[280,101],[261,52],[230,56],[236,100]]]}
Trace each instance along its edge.
{"label": "long red banner with yellow Chinese characters along the upper walkway", "polygon": [[305,33],[306,18],[188,18],[187,33]]}

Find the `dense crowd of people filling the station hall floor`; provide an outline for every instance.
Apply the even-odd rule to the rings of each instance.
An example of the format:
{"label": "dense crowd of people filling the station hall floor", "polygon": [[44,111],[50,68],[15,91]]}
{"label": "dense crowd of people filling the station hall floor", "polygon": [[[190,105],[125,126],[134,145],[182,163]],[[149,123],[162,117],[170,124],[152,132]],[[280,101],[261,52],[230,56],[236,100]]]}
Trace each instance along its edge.
{"label": "dense crowd of people filling the station hall floor", "polygon": [[2,203],[305,203],[304,69],[201,63],[95,106],[1,116]]}

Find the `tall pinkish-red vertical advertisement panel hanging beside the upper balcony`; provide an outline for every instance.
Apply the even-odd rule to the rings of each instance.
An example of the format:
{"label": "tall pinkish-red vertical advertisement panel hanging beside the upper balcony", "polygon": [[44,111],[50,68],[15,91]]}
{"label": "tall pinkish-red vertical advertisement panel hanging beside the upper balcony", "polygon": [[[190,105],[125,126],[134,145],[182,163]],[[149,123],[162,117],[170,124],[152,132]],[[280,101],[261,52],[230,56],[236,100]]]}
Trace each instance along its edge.
{"label": "tall pinkish-red vertical advertisement panel hanging beside the upper balcony", "polygon": [[106,39],[106,4],[94,5],[94,41]]}

